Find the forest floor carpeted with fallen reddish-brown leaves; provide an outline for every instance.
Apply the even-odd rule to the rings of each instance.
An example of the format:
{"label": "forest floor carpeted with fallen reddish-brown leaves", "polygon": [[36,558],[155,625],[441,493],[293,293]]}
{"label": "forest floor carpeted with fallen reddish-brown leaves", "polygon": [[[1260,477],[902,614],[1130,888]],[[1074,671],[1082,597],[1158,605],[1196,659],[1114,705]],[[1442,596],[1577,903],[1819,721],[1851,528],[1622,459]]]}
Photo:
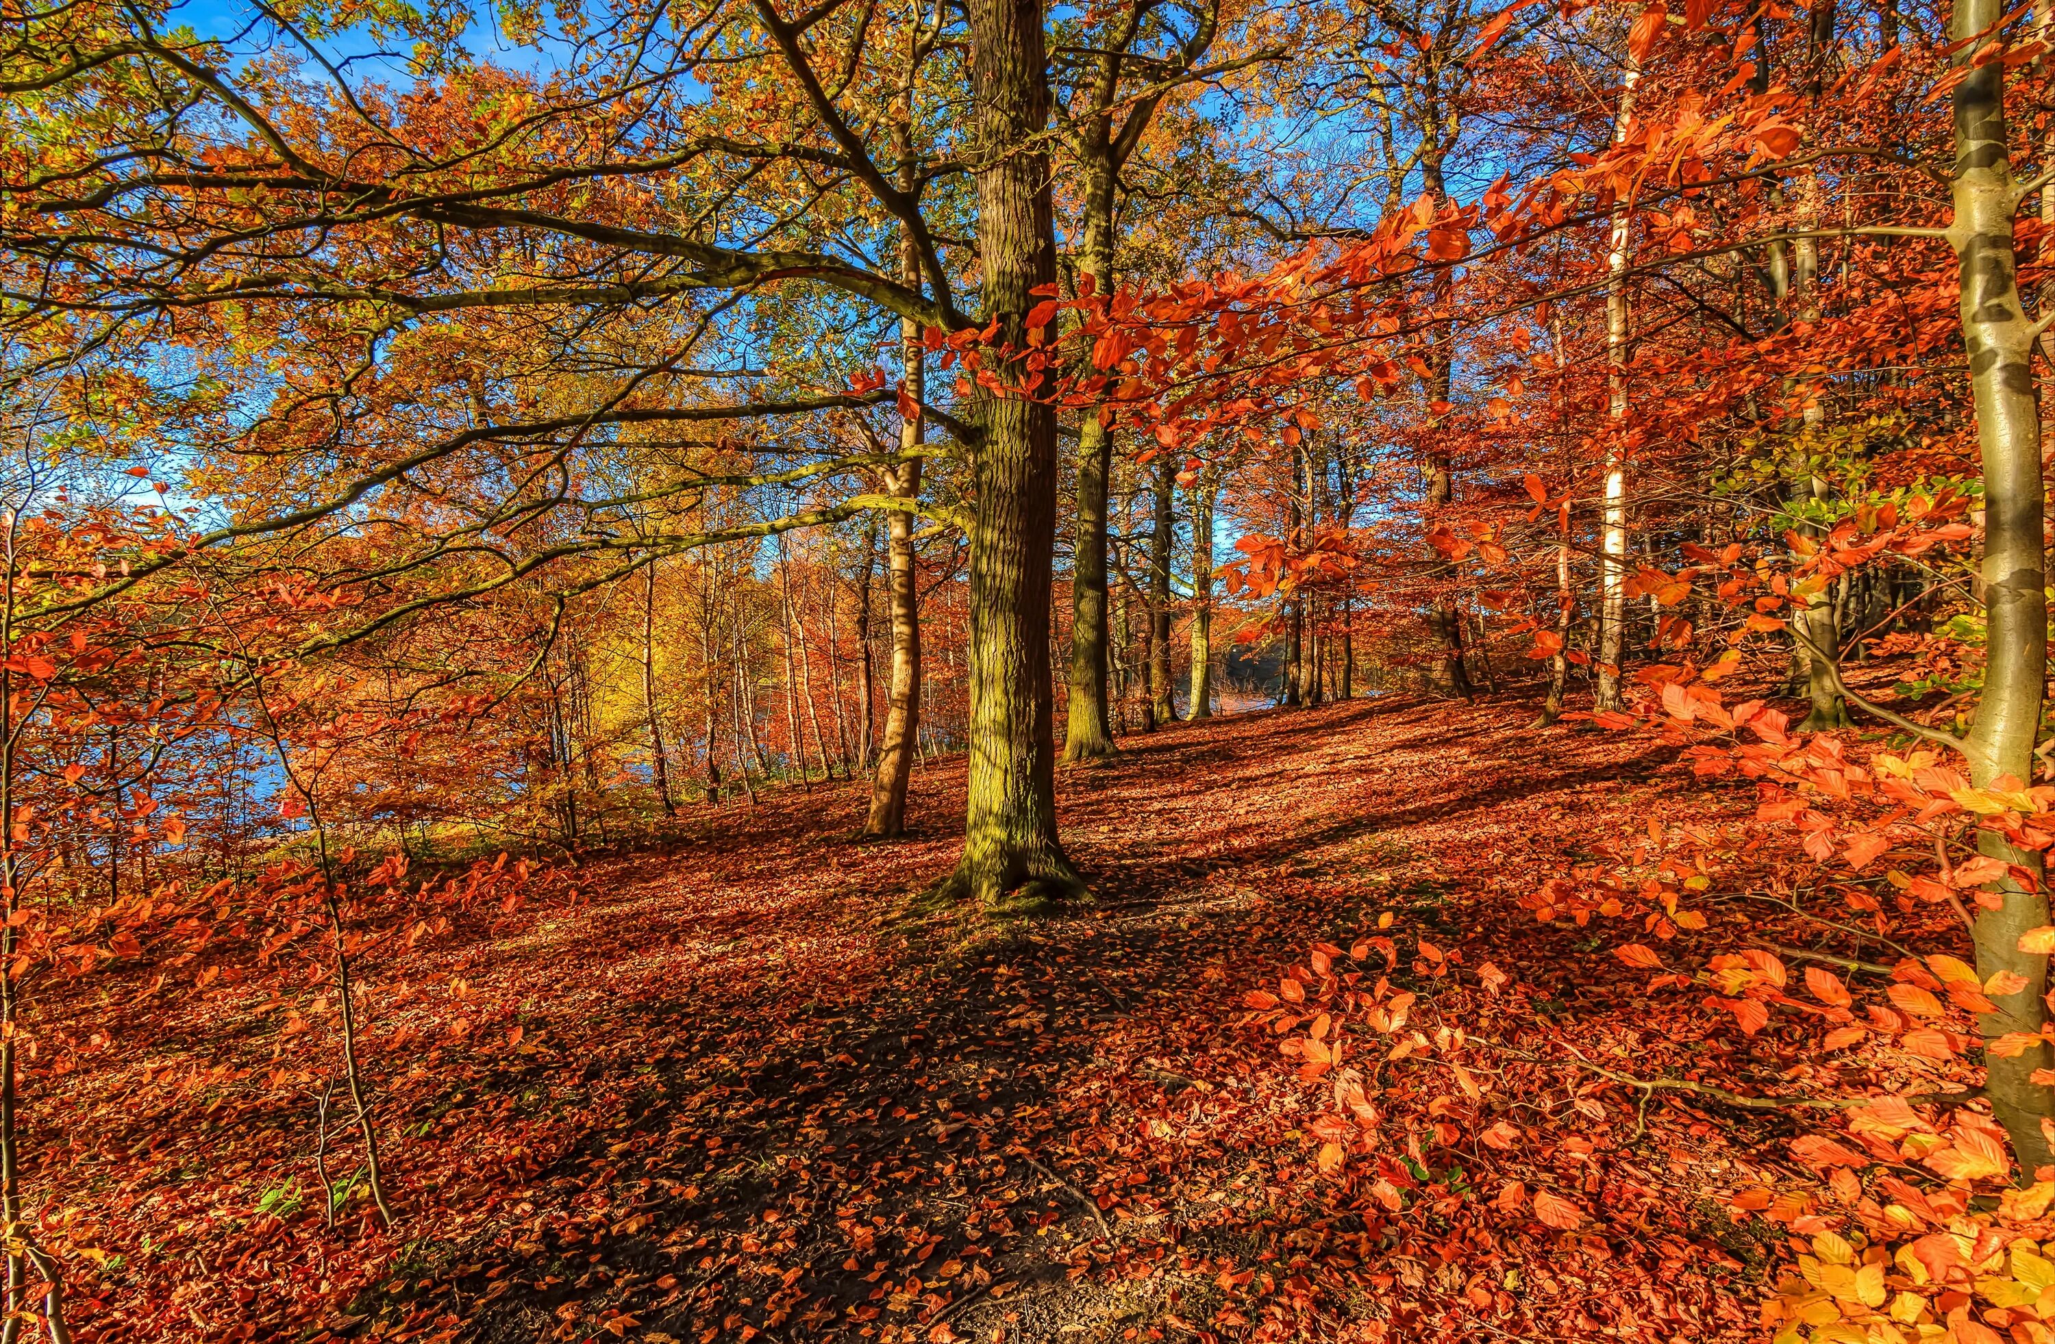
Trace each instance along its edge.
{"label": "forest floor carpeted with fallen reddish-brown leaves", "polygon": [[[1508,978],[1480,1017],[1506,1038],[1644,1069],[1708,1048],[1611,956],[1632,931],[1517,902],[1714,804],[1665,748],[1529,719],[1389,695],[1126,738],[1058,781],[1097,902],[1011,929],[908,914],[956,855],[960,760],[917,773],[894,845],[847,838],[851,785],[699,806],[676,847],[366,968],[393,1237],[362,1192],[323,1227],[300,1093],[152,1091],[193,1069],[255,1087],[288,995],[138,995],[58,1108],[92,1134],[49,1134],[31,1173],[119,1208],[64,1215],[101,1243],[82,1338],[1751,1338],[1780,1237],[1726,1200],[1798,1173],[1782,1120],[1543,1067],[1478,1104],[1475,1128],[1523,1126],[1510,1153],[1438,1145],[1449,1097],[1406,1120],[1395,1089],[1393,1151],[1321,1173],[1332,1087],[1241,1005],[1389,912],[1436,947],[1395,980]],[[329,1130],[341,1178],[353,1138]],[[117,1155],[119,1180],[97,1165]],[[1424,1190],[1387,1212],[1379,1171]],[[1589,1221],[1500,1212],[1508,1178]]]}

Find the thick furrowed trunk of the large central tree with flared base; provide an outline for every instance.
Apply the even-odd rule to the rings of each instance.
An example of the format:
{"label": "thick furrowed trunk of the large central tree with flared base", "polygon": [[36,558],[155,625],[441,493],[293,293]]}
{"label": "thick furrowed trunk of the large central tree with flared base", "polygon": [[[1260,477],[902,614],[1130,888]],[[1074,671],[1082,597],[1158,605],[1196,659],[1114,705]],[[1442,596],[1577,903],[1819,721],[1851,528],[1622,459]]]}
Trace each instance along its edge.
{"label": "thick furrowed trunk of the large central tree with flared base", "polygon": [[[1007,353],[1001,384],[1030,390],[1028,310],[1056,277],[1048,156],[1048,55],[1040,0],[970,0],[978,261],[984,321]],[[1034,333],[1038,339],[1048,333]],[[1048,666],[1056,540],[1056,415],[984,393],[970,530],[970,791],[964,857],[947,890],[1030,910],[1085,884],[1056,838],[1054,688]]]}

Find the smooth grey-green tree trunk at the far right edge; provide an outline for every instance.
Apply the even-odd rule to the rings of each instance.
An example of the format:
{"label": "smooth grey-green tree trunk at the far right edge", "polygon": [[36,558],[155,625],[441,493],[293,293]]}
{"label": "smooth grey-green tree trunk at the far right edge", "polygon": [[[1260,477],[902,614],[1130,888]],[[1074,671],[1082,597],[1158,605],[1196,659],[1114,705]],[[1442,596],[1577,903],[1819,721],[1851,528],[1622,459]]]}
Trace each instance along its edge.
{"label": "smooth grey-green tree trunk at the far right edge", "polygon": [[[2034,738],[2047,678],[2047,596],[2043,590],[2041,407],[2034,397],[2032,331],[2020,306],[2012,216],[2020,206],[2006,144],[2004,62],[1975,64],[1981,43],[1971,37],[1997,25],[2000,0],[1956,0],[1952,37],[1956,62],[1969,66],[1952,90],[1954,220],[1948,240],[1960,263],[1963,339],[1977,399],[1977,444],[1983,454],[1983,600],[1987,664],[1977,723],[1971,730],[1971,779],[1979,789],[2024,787],[2032,779]],[[1995,41],[1989,37],[1987,41]],[[2043,857],[2014,849],[2000,830],[1977,830],[1977,849],[2034,875],[2028,892],[1995,884],[2002,904],[1977,914],[1977,974],[2012,972],[2024,986],[1991,995],[1995,1013],[1979,1019],[1989,1042],[2008,1032],[2041,1032],[2049,1019],[2047,958],[2020,951],[2020,935],[2049,923],[2041,892]],[[2012,1058],[1985,1050],[1991,1114],[2012,1136],[2020,1175],[2055,1161],[2049,1118],[2055,1089],[2034,1083],[2051,1054],[2037,1044]]]}

